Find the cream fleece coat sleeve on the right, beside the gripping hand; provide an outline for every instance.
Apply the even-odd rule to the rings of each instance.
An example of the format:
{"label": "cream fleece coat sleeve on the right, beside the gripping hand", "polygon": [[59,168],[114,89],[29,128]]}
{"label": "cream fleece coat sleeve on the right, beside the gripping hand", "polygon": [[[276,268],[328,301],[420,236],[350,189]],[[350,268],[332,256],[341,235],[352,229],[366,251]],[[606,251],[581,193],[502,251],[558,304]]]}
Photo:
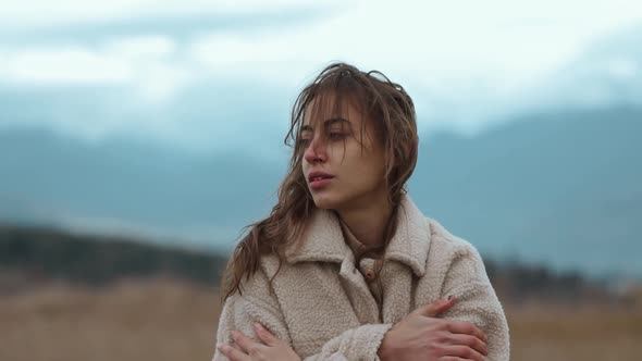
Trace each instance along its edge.
{"label": "cream fleece coat sleeve on the right, beside the gripping hand", "polygon": [[508,323],[483,261],[472,245],[461,239],[456,241],[461,242],[461,251],[456,252],[450,263],[442,295],[455,296],[457,301],[440,318],[474,324],[487,336],[487,360],[509,360]]}

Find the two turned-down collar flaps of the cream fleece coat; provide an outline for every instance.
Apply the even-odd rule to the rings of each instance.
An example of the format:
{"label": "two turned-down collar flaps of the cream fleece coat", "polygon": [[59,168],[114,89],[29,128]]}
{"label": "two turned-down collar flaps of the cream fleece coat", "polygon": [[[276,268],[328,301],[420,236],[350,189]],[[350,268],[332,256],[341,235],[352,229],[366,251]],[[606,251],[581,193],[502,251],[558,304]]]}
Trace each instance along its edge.
{"label": "two turned-down collar flaps of the cream fleece coat", "polygon": [[[333,211],[316,210],[299,240],[285,249],[286,261],[342,263],[351,251],[344,240],[339,222]],[[430,235],[425,216],[404,195],[397,212],[397,229],[386,247],[384,260],[400,262],[417,276],[423,276]]]}

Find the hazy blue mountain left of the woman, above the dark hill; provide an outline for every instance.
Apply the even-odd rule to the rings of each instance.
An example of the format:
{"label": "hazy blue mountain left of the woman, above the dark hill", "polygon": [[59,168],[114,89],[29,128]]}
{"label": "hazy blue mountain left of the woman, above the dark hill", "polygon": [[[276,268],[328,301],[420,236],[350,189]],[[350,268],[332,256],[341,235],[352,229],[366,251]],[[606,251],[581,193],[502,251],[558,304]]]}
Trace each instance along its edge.
{"label": "hazy blue mountain left of the woman, above the dark hill", "polygon": [[284,170],[234,152],[201,157],[123,139],[92,145],[34,128],[0,132],[0,164],[8,221],[229,244],[269,210]]}

